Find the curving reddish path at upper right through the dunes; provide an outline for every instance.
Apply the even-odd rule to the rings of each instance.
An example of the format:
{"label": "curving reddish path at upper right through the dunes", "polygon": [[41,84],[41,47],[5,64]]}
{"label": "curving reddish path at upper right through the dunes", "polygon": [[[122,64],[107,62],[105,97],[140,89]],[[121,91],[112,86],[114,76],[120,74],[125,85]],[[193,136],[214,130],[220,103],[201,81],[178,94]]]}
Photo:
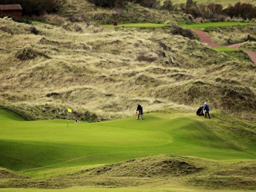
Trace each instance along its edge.
{"label": "curving reddish path at upper right through the dunes", "polygon": [[[211,37],[210,35],[206,34],[207,32],[205,31],[199,31],[199,30],[192,30],[194,33],[196,33],[197,35],[199,35],[199,37],[201,38],[202,43],[206,43],[208,46],[213,47],[213,48],[233,48],[233,49],[238,49],[239,46],[243,43],[240,44],[233,44],[233,45],[229,45],[226,47],[221,47],[218,46],[216,44],[214,44],[211,41]],[[248,50],[242,50],[243,52],[245,52],[246,54],[248,54],[248,56],[251,58],[252,62],[256,65],[256,53],[252,52],[252,51],[248,51]]]}

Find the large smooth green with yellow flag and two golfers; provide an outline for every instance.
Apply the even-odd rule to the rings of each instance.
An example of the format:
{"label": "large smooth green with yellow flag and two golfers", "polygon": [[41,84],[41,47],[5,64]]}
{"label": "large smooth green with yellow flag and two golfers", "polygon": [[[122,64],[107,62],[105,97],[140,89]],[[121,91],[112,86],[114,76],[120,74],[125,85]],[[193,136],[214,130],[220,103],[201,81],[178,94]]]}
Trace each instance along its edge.
{"label": "large smooth green with yellow flag and two golfers", "polygon": [[[233,118],[219,111],[211,114]],[[240,125],[220,118],[207,120],[195,113],[148,113],[143,121],[135,116],[78,125],[71,121],[67,128],[67,120],[22,121],[1,109],[0,122],[1,166],[15,171],[32,169],[19,172],[31,177],[51,176],[53,169],[58,174],[67,167],[167,153],[226,161],[256,157],[253,142],[227,128],[241,129]],[[38,167],[44,168],[35,169]]]}

